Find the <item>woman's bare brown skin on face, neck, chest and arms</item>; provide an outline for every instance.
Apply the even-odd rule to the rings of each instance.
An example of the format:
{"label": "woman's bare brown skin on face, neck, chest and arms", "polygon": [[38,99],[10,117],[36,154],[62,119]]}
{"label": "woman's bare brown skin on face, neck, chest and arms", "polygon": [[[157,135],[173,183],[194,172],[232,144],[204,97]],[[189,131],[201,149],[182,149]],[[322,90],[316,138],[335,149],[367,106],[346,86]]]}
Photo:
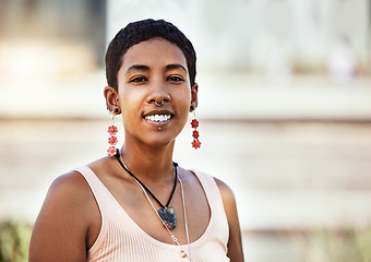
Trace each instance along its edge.
{"label": "woman's bare brown skin on face, neck, chest and arms", "polygon": [[[187,61],[181,50],[163,39],[151,39],[131,47],[123,56],[118,83],[118,91],[107,86],[104,93],[107,108],[110,111],[118,108],[117,114],[122,116],[125,123],[122,158],[159,201],[166,203],[173,186],[175,140],[187,122],[191,105],[198,106],[198,85],[190,86]],[[154,112],[158,110],[155,102],[161,100],[165,102],[160,107],[165,112],[161,114],[169,114],[171,118],[159,124],[145,117],[159,114]],[[158,241],[173,245],[142,189],[115,157],[107,156],[88,167],[137,226]],[[195,175],[181,167],[178,168],[178,175],[184,187],[189,235],[193,242],[207,228],[210,206]],[[224,182],[218,179],[215,181],[229,224],[227,255],[232,262],[241,262],[243,254],[235,196]],[[171,231],[181,245],[185,245],[179,182],[171,206],[178,219],[177,227]],[[85,179],[76,171],[60,176],[52,182],[36,221],[29,261],[86,261],[87,250],[97,239],[100,226],[99,209]]]}

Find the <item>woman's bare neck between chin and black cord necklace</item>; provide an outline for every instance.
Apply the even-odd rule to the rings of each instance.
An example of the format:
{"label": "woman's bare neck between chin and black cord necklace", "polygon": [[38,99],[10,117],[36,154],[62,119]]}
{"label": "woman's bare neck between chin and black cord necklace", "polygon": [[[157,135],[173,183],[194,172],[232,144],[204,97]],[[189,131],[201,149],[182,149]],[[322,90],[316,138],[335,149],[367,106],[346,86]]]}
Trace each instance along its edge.
{"label": "woman's bare neck between chin and black cord necklace", "polygon": [[120,154],[124,164],[139,179],[161,182],[172,180],[173,142],[161,147],[149,147],[125,142]]}

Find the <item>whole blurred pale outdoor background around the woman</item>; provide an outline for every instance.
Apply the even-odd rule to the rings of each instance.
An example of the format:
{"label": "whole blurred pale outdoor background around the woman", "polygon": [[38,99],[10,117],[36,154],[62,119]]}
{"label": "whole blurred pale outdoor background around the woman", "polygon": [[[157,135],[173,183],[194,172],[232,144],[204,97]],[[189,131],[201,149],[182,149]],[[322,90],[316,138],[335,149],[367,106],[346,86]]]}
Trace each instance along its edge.
{"label": "whole blurred pale outdoor background around the woman", "polygon": [[370,261],[370,0],[0,0],[0,261],[105,156],[105,49],[146,17],[194,44],[202,147],[187,124],[175,160],[234,189],[246,260]]}

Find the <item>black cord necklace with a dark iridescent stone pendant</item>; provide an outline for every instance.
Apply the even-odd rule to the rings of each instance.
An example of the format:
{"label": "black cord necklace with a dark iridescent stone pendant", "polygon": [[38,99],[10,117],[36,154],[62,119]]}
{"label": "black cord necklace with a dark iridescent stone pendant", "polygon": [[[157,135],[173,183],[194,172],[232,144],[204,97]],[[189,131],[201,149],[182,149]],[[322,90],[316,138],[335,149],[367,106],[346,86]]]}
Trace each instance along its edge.
{"label": "black cord necklace with a dark iridescent stone pendant", "polygon": [[151,190],[145,187],[145,184],[139,180],[134,174],[132,174],[129,168],[125,166],[125,164],[123,163],[123,160],[120,159],[120,152],[119,150],[117,150],[117,154],[115,155],[116,156],[116,159],[120,163],[120,165],[122,166],[122,168],[132,177],[134,178],[151,195],[152,198],[154,198],[154,200],[156,200],[156,202],[161,206],[161,209],[159,209],[157,212],[159,214],[159,216],[161,217],[161,219],[164,221],[164,223],[166,224],[166,226],[169,228],[169,229],[172,229],[177,226],[177,217],[176,217],[176,214],[173,212],[173,209],[172,206],[169,206],[170,204],[170,201],[172,199],[172,195],[173,195],[173,192],[176,191],[176,188],[177,188],[177,180],[178,180],[178,171],[177,171],[177,166],[178,164],[172,162],[172,165],[173,165],[173,169],[175,169],[175,172],[176,172],[176,179],[173,181],[173,187],[172,187],[172,191],[171,191],[171,194],[170,194],[170,198],[167,202],[166,205],[164,205],[161,202],[159,202],[159,200],[151,192]]}

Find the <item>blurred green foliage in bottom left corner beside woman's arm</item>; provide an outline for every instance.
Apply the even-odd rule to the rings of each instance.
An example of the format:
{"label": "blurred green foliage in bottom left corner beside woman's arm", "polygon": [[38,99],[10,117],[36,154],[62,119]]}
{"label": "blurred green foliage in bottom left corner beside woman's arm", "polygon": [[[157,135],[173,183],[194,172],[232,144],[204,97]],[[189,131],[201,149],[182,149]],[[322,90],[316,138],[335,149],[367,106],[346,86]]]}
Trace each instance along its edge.
{"label": "blurred green foliage in bottom left corner beside woman's arm", "polygon": [[0,262],[26,262],[32,226],[20,222],[0,223]]}

